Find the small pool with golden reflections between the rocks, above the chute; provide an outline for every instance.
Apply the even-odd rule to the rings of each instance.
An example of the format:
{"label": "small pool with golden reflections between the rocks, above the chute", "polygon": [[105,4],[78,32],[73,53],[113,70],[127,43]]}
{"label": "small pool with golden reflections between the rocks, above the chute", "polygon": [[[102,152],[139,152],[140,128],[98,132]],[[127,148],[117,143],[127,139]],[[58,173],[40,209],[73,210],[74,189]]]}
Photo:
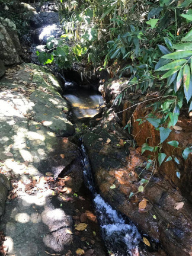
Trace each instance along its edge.
{"label": "small pool with golden reflections between the rocks, above the chute", "polygon": [[101,105],[104,104],[100,94],[85,88],[66,88],[63,96],[71,103],[73,114],[78,119],[83,117],[94,117],[99,113]]}

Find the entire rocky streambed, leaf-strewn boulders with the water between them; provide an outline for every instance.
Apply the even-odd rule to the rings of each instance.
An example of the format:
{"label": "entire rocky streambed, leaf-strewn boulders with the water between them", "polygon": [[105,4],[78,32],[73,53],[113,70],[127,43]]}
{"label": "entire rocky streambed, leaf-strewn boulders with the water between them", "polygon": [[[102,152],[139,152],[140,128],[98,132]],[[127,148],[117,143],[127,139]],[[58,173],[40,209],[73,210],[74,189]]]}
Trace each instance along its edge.
{"label": "entire rocky streambed, leaf-strewn boulders with the water between them", "polygon": [[[43,6],[24,4],[36,33],[49,23],[47,12],[54,12],[50,24],[58,21],[55,7]],[[98,92],[81,88],[86,95],[80,97],[78,87],[65,91],[49,69],[21,64],[15,31],[1,19],[0,254],[191,255],[191,155],[184,162],[175,152],[179,181],[174,163],[152,175],[145,168],[148,152],[141,155],[146,138],[157,142],[159,135],[150,123],[141,130],[136,119],[151,111],[143,97],[150,103],[158,92],[129,92],[116,104],[127,81],[113,79],[100,86],[104,107]],[[171,140],[190,146],[191,119],[178,122],[182,130],[173,129]],[[127,123],[131,135],[123,129]],[[167,144],[163,150],[171,153]]]}

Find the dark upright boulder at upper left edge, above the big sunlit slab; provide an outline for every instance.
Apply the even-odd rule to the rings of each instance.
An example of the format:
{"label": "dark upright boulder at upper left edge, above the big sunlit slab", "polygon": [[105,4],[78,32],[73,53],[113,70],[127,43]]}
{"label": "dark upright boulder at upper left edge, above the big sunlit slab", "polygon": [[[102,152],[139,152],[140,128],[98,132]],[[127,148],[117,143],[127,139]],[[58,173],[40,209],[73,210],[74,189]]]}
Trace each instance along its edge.
{"label": "dark upright boulder at upper left edge, above the big sunlit slab", "polygon": [[0,59],[5,65],[12,65],[21,62],[21,46],[17,36],[15,24],[0,17]]}

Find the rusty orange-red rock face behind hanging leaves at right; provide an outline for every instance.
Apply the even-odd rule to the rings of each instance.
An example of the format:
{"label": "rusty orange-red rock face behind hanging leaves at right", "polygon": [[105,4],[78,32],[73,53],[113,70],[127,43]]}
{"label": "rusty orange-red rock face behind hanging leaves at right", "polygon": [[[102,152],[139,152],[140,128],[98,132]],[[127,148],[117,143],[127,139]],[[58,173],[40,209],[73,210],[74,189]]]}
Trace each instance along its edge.
{"label": "rusty orange-red rock face behind hanging leaves at right", "polygon": [[[132,116],[132,133],[135,136],[135,140],[138,146],[142,146],[143,143],[146,142],[146,138],[148,139],[148,144],[158,145],[160,142],[160,135],[159,131],[155,130],[155,127],[152,126],[151,123],[146,121],[142,124],[142,129],[140,129],[139,122],[136,121],[140,117],[145,116],[147,113],[152,111],[151,107],[146,108],[145,104],[138,106],[133,113]],[[187,111],[186,111],[187,112]],[[192,145],[192,132],[191,132],[191,125],[192,121],[188,114],[182,114],[179,117],[179,120],[176,124],[177,126],[181,127],[181,130],[172,129],[169,137],[165,142],[162,143],[162,152],[164,152],[167,156],[172,156],[173,147],[168,145],[167,142],[171,140],[177,140],[179,143],[180,148],[174,149],[174,156],[179,159],[180,164],[178,165],[174,159],[169,162],[163,162],[161,167],[158,169],[159,173],[162,174],[170,183],[174,183],[175,186],[181,189],[183,195],[191,201],[191,191],[192,191],[192,184],[191,184],[191,175],[192,175],[192,153],[188,155],[187,160],[185,161],[182,152],[183,149],[186,147],[190,147]],[[146,155],[149,155],[149,151],[146,151]],[[177,170],[181,173],[181,178],[178,179],[176,175]]]}

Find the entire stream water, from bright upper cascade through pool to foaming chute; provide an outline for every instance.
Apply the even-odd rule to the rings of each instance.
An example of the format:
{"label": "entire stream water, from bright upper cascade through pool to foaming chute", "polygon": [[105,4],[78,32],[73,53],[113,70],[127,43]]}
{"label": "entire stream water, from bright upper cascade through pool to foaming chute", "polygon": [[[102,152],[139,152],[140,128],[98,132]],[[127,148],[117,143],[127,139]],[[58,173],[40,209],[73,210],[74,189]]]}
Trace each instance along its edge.
{"label": "entire stream water, from bright upper cascade through pool to foaming chute", "polygon": [[[50,35],[55,35],[57,25],[55,27],[53,25],[52,28],[55,28],[53,30],[49,29],[50,25],[47,26],[47,29],[46,27],[43,28],[43,31],[41,31],[39,35],[40,41],[45,41]],[[43,38],[41,38],[42,33]],[[32,45],[31,49],[33,54],[31,57],[34,63],[37,62],[35,54],[36,47],[39,50],[43,49],[42,45]],[[60,76],[62,75],[60,74]],[[63,78],[63,80],[65,81],[65,78]],[[75,83],[69,81],[65,81],[65,93],[63,97],[65,97],[71,105],[72,119],[75,124],[82,123],[81,120],[94,117],[100,113],[100,107],[104,105],[104,100],[99,92],[97,93],[90,89],[78,87]],[[111,256],[138,255],[138,245],[142,239],[139,231],[137,231],[136,226],[130,222],[126,216],[122,216],[114,210],[105,202],[100,194],[97,193],[88,155],[83,142],[81,144],[81,153],[82,164],[84,166],[84,182],[88,190],[91,191],[92,204],[100,224],[101,236],[103,237],[108,254]]]}

